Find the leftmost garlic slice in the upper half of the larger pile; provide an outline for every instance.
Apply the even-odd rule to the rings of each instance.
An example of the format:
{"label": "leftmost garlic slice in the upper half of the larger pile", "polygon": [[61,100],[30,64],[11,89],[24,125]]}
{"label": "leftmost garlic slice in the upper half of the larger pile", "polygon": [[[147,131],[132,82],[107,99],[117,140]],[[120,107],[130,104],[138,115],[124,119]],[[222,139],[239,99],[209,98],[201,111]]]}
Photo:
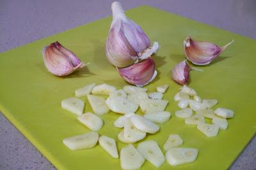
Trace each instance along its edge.
{"label": "leftmost garlic slice in the upper half of the larger pile", "polygon": [[76,97],[65,98],[61,101],[61,107],[74,114],[81,115],[84,111],[84,101]]}

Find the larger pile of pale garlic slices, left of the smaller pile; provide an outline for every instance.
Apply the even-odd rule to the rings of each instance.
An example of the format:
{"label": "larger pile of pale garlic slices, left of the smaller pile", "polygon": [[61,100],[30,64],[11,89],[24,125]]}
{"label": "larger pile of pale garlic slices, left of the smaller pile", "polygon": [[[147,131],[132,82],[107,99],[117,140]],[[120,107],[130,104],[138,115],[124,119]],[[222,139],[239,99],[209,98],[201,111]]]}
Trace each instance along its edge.
{"label": "larger pile of pale garlic slices, left of the smaller pile", "polygon": [[[178,148],[183,141],[177,134],[170,134],[163,149],[159,148],[156,141],[143,141],[134,148],[136,143],[146,137],[146,134],[154,134],[159,130],[159,125],[170,119],[170,112],[164,111],[168,100],[163,100],[163,93],[168,85],[157,87],[156,92],[147,93],[146,88],[136,86],[124,86],[123,89],[116,89],[108,84],[97,85],[95,83],[77,89],[76,97],[62,100],[61,107],[67,111],[77,114],[77,120],[92,130],[82,135],[76,135],[63,139],[63,143],[70,150],[81,150],[93,148],[99,141],[100,146],[113,158],[120,157],[122,169],[140,169],[145,160],[148,160],[156,167],[161,166],[165,160],[172,165],[186,164],[193,162],[197,155],[196,148]],[[101,96],[100,96],[101,95]],[[108,95],[105,100],[102,95]],[[84,112],[84,101],[81,97],[87,97],[92,112]],[[143,116],[136,114],[140,107]],[[116,141],[106,135],[100,135],[95,131],[102,128],[104,121],[100,116],[113,111],[123,114],[113,123],[117,128],[124,128],[117,138],[128,145],[123,147],[118,154]]]}

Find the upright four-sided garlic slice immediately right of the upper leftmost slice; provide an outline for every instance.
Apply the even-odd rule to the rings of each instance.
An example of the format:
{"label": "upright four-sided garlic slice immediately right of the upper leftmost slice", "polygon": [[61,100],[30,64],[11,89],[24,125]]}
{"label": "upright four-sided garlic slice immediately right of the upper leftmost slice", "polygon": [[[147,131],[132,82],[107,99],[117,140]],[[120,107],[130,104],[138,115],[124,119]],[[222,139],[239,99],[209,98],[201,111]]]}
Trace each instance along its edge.
{"label": "upright four-sided garlic slice immediately right of the upper leftmost slice", "polygon": [[95,95],[87,95],[88,102],[90,103],[93,112],[98,116],[102,116],[109,112],[108,105],[106,105],[103,97],[97,97]]}

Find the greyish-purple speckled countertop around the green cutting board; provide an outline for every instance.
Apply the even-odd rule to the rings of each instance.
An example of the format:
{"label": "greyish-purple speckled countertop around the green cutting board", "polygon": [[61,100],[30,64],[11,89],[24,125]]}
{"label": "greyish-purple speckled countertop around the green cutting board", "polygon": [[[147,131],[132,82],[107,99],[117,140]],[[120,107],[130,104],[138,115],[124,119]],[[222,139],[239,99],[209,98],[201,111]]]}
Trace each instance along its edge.
{"label": "greyish-purple speckled countertop around the green cutting board", "polygon": [[[0,1],[0,52],[111,15],[113,1]],[[121,1],[124,9],[147,4],[256,39],[256,1]],[[4,83],[4,82],[2,82]],[[243,128],[243,127],[241,127]],[[0,113],[0,169],[55,169]],[[256,169],[256,137],[230,169]]]}

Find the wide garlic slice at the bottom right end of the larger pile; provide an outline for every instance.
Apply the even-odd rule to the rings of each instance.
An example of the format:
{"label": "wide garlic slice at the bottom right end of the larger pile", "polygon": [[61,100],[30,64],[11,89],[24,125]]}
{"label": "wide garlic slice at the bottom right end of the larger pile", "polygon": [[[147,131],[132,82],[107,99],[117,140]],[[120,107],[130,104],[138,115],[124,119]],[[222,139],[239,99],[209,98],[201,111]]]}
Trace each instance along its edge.
{"label": "wide garlic slice at the bottom right end of the larger pile", "polygon": [[196,148],[170,148],[166,154],[166,160],[171,166],[177,166],[180,164],[188,164],[194,162],[198,155],[198,149]]}

